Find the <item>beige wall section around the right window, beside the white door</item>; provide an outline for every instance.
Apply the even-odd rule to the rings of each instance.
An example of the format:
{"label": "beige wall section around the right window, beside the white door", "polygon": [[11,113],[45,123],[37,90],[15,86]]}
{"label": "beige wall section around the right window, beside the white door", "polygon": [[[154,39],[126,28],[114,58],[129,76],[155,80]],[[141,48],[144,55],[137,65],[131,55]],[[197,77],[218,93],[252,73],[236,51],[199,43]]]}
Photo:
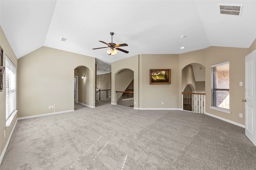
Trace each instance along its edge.
{"label": "beige wall section around the right window, beside the white door", "polygon": [[[239,113],[244,115],[244,86],[239,86],[239,82],[244,82],[244,57],[248,54],[245,48],[230,47],[208,47],[206,49],[206,113],[234,121],[245,125],[245,119],[239,117]],[[211,106],[211,65],[229,61],[230,65],[230,114],[210,109]]]}

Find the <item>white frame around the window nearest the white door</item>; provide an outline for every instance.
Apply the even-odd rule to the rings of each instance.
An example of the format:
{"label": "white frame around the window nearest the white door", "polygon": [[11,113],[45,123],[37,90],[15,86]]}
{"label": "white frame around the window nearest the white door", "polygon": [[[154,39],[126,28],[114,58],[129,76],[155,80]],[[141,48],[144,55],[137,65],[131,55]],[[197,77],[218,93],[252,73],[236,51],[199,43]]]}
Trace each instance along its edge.
{"label": "white frame around the window nearest the white door", "polygon": [[[212,96],[211,98],[212,98],[212,101],[211,101],[210,108],[214,109],[214,110],[222,111],[222,112],[225,112],[225,113],[230,113],[230,106],[229,106],[229,109],[224,109],[222,107],[213,106],[214,105],[213,100],[215,100],[215,99],[213,99],[214,98],[214,96],[213,96],[213,92],[214,92],[214,88],[213,88],[214,87],[214,84],[213,84],[214,83],[213,82],[213,68],[216,67],[216,66],[223,65],[223,64],[229,64],[229,61],[226,61],[224,63],[214,64],[214,65],[211,66],[211,96]],[[228,89],[222,89],[222,90],[228,90],[229,91],[229,87],[228,87]]]}

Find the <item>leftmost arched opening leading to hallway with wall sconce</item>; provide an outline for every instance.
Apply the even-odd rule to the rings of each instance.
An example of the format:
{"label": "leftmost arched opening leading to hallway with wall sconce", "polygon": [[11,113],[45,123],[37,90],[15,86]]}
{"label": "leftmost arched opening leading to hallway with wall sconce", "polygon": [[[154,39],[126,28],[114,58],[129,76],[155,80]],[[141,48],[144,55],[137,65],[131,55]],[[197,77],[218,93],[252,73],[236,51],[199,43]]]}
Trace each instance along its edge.
{"label": "leftmost arched opening leading to hallway with wall sconce", "polygon": [[78,66],[74,69],[74,106],[82,104],[88,107],[95,107],[92,88],[92,70],[86,66]]}

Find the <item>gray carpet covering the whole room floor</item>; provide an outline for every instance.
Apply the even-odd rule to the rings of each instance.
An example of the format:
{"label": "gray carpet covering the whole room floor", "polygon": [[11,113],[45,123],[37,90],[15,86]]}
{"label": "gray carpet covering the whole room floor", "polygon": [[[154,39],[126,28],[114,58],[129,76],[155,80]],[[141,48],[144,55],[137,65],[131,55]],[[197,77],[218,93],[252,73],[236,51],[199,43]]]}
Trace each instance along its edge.
{"label": "gray carpet covering the whole room floor", "polygon": [[188,111],[135,110],[99,101],[19,120],[1,170],[252,170],[244,128]]}

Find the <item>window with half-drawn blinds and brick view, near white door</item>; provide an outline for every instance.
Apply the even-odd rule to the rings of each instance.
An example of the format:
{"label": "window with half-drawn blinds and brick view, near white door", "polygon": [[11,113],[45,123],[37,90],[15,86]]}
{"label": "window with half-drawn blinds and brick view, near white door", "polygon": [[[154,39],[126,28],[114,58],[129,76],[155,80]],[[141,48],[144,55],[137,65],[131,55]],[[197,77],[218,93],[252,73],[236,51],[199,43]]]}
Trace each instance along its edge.
{"label": "window with half-drawn blinds and brick view, near white door", "polygon": [[229,111],[229,61],[212,65],[212,109]]}

